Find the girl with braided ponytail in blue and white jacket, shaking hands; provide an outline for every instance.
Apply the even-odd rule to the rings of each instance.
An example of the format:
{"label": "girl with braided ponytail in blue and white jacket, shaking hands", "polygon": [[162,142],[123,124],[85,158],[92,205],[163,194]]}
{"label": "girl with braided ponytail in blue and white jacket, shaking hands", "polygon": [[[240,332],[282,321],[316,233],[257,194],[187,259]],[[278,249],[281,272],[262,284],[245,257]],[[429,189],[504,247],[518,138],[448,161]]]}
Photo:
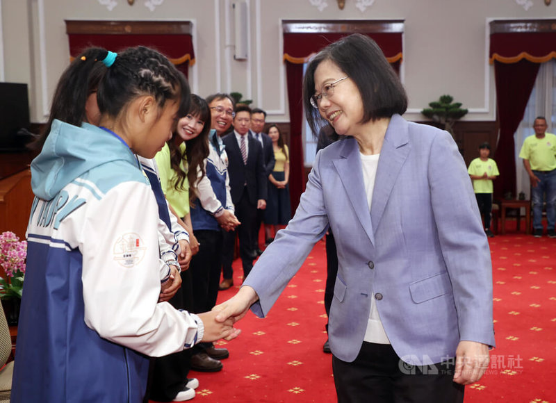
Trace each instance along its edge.
{"label": "girl with braided ponytail in blue and white jacket, shaking hands", "polygon": [[54,120],[31,164],[12,402],[141,402],[147,355],[237,334],[214,313],[158,303],[158,207],[134,154],[152,158],[170,137],[188,108],[185,78],[145,47],[85,54],[64,73],[53,110],[103,63],[99,127]]}

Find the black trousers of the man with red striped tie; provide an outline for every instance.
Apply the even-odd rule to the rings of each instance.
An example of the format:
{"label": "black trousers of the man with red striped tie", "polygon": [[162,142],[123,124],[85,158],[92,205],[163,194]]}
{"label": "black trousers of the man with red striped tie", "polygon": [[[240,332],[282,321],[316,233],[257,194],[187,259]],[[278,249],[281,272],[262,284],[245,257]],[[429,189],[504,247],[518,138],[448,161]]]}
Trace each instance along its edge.
{"label": "black trousers of the man with red striped tie", "polygon": [[222,270],[224,279],[231,279],[234,270],[231,263],[234,262],[234,247],[236,246],[236,233],[239,238],[239,255],[243,265],[243,278],[245,279],[253,267],[253,226],[256,218],[256,204],[249,201],[247,188],[243,188],[243,195],[239,201],[234,204],[236,217],[238,217],[241,225],[236,231],[224,232],[224,251],[222,254]]}

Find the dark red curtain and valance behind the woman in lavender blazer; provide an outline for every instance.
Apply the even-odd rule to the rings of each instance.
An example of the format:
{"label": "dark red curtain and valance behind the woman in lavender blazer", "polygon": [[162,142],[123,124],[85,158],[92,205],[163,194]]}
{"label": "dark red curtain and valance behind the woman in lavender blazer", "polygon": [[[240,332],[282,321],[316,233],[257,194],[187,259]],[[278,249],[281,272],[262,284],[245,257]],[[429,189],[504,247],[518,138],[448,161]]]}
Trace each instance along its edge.
{"label": "dark red curtain and valance behind the woman in lavender blazer", "polygon": [[[284,33],[284,61],[286,63],[291,126],[290,197],[292,211],[297,208],[305,186],[302,141],[303,64],[323,47],[351,33]],[[366,33],[366,35],[377,42],[392,67],[399,73],[402,60],[402,33]]]}

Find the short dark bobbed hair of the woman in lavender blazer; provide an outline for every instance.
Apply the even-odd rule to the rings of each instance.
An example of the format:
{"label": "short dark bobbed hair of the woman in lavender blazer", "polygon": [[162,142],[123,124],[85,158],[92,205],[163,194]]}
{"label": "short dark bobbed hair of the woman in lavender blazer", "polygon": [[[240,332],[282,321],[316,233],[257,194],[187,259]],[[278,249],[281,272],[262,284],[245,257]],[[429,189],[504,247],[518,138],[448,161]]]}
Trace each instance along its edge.
{"label": "short dark bobbed hair of the woman in lavender blazer", "polygon": [[303,81],[305,116],[313,133],[318,133],[322,117],[311,106],[315,94],[315,70],[325,60],[337,65],[359,89],[363,99],[361,123],[402,115],[407,110],[403,85],[377,43],[367,35],[354,33],[322,49],[307,66]]}

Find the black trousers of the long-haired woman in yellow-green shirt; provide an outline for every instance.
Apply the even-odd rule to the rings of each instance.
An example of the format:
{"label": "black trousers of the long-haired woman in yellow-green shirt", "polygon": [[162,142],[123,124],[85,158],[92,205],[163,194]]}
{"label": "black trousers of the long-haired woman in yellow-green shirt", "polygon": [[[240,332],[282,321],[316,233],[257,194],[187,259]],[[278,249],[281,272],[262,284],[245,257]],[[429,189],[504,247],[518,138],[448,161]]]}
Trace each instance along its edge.
{"label": "black trousers of the long-haired woman in yellow-green shirt", "polygon": [[[193,311],[192,283],[190,271],[181,272],[181,288],[169,301],[174,308]],[[185,388],[190,369],[191,349],[152,358],[144,402],[147,402],[147,397],[159,402],[172,402],[178,392]]]}

